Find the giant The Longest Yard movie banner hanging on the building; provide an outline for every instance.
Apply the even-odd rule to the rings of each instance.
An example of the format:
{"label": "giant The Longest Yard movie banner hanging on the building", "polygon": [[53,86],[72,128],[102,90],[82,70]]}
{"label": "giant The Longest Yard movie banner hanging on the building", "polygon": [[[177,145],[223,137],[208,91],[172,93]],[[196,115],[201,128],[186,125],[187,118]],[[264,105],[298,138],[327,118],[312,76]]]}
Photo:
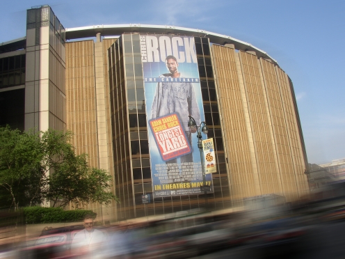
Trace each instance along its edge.
{"label": "giant The Longest Yard movie banner hanging on the building", "polygon": [[154,196],[202,194],[197,133],[188,128],[189,115],[204,121],[194,38],[141,35],[141,59]]}

